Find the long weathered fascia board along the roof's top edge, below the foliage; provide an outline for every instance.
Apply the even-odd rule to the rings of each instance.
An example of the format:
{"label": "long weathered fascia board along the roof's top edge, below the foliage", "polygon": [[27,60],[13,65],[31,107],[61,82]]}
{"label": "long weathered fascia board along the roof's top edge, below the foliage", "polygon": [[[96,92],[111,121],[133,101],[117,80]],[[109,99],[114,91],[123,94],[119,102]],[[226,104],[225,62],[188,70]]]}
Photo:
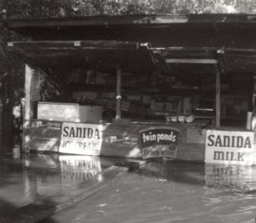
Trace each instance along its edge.
{"label": "long weathered fascia board along the roof's top edge, below the foliage", "polygon": [[[145,24],[174,24],[177,23],[249,23],[254,24],[256,15],[244,14],[191,14],[191,15],[116,15],[116,16],[89,16],[80,18],[11,18],[4,19],[9,29],[26,27],[58,27],[65,26],[111,26]],[[24,29],[26,31],[26,29]]]}

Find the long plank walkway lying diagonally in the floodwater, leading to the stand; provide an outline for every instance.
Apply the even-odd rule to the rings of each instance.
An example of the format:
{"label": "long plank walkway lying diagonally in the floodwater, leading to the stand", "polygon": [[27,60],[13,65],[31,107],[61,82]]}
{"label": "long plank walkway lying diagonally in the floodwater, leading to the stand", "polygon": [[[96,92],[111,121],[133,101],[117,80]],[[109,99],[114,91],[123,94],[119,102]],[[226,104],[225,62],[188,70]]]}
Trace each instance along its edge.
{"label": "long plank walkway lying diagonally in the floodwater, leading to the stand", "polygon": [[[104,170],[102,173],[94,175],[89,181],[83,181],[78,184],[75,191],[69,190],[66,194],[55,194],[50,197],[45,197],[36,200],[34,203],[18,208],[17,211],[8,216],[2,217],[0,222],[4,223],[36,223],[42,219],[47,218],[53,213],[69,208],[70,206],[85,200],[91,195],[104,189],[111,184],[118,175],[126,172],[127,167],[111,166]],[[99,181],[101,175],[102,181]],[[75,188],[75,186],[74,186]],[[67,196],[68,194],[68,196]]]}

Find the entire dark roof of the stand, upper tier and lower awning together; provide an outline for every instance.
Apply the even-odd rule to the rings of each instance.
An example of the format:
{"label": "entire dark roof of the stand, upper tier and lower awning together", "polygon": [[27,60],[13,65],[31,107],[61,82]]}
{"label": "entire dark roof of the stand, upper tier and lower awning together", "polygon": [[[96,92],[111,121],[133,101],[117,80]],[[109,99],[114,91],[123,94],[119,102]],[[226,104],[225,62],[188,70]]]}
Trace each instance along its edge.
{"label": "entire dark roof of the stand, upper tier and lower awning together", "polygon": [[256,70],[256,15],[124,15],[1,22],[30,39],[13,42],[11,49],[19,48],[45,66],[69,63],[153,69],[157,65],[168,69],[186,60],[196,63],[200,59],[207,64],[219,60],[221,52],[227,71]]}

